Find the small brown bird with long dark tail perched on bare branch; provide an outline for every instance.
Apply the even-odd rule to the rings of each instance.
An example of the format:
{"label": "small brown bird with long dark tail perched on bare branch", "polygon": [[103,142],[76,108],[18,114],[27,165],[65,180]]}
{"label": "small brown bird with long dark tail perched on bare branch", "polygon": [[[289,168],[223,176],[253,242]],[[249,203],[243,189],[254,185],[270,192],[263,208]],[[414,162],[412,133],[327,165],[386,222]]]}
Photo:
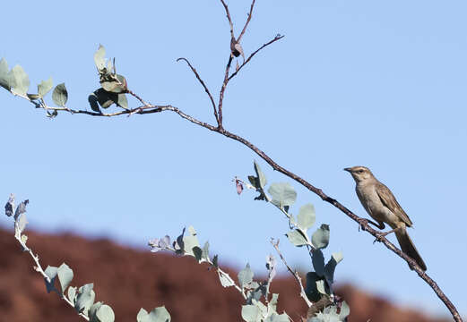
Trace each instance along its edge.
{"label": "small brown bird with long dark tail perched on bare branch", "polygon": [[[376,220],[376,223],[371,220],[368,220],[368,223],[381,230],[385,229],[385,224],[390,225],[392,230],[381,234],[385,236],[388,233],[395,233],[401,250],[414,259],[423,271],[426,271],[427,266],[407,233],[407,227],[413,225],[411,218],[403,211],[393,192],[379,182],[366,166],[347,167],[344,171],[352,175],[356,182],[355,191],[363,208]],[[411,265],[409,267],[413,270]]]}

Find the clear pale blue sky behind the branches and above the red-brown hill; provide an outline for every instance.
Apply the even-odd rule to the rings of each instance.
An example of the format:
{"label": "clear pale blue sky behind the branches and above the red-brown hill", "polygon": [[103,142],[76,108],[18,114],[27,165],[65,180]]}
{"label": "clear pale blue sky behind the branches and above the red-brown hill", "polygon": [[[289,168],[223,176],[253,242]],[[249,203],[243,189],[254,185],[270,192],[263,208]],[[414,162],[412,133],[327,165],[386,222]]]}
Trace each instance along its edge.
{"label": "clear pale blue sky behind the branches and above the red-brown hill", "polygon": [[[229,6],[238,34],[249,2]],[[220,2],[6,2],[3,12],[8,32],[0,56],[10,67],[22,65],[30,91],[52,76],[55,84],[65,81],[68,106],[87,107],[99,87],[92,55],[101,43],[144,99],[214,122],[203,89],[175,60],[190,59],[217,96],[229,55]],[[286,37],[255,56],[231,81],[224,101],[229,131],[360,216],[365,211],[342,168],[370,167],[411,216],[415,229],[409,233],[428,274],[463,314],[466,12],[463,1],[259,0],[242,43],[246,55],[276,33]],[[231,179],[253,174],[254,159],[269,182],[291,182],[238,142],[169,113],[48,120],[4,90],[0,113],[0,196],[30,199],[30,228],[144,247],[152,237],[194,225],[221,264],[249,262],[264,272],[265,256],[273,253],[269,238],[280,237],[290,264],[310,267],[305,250],[283,237],[287,223],[280,213],[253,201],[253,193],[238,197]],[[312,202],[316,227],[331,225],[326,255],[344,254],[338,281],[446,314],[400,258],[291,183],[298,191],[292,213]],[[5,217],[0,223],[11,225]]]}

